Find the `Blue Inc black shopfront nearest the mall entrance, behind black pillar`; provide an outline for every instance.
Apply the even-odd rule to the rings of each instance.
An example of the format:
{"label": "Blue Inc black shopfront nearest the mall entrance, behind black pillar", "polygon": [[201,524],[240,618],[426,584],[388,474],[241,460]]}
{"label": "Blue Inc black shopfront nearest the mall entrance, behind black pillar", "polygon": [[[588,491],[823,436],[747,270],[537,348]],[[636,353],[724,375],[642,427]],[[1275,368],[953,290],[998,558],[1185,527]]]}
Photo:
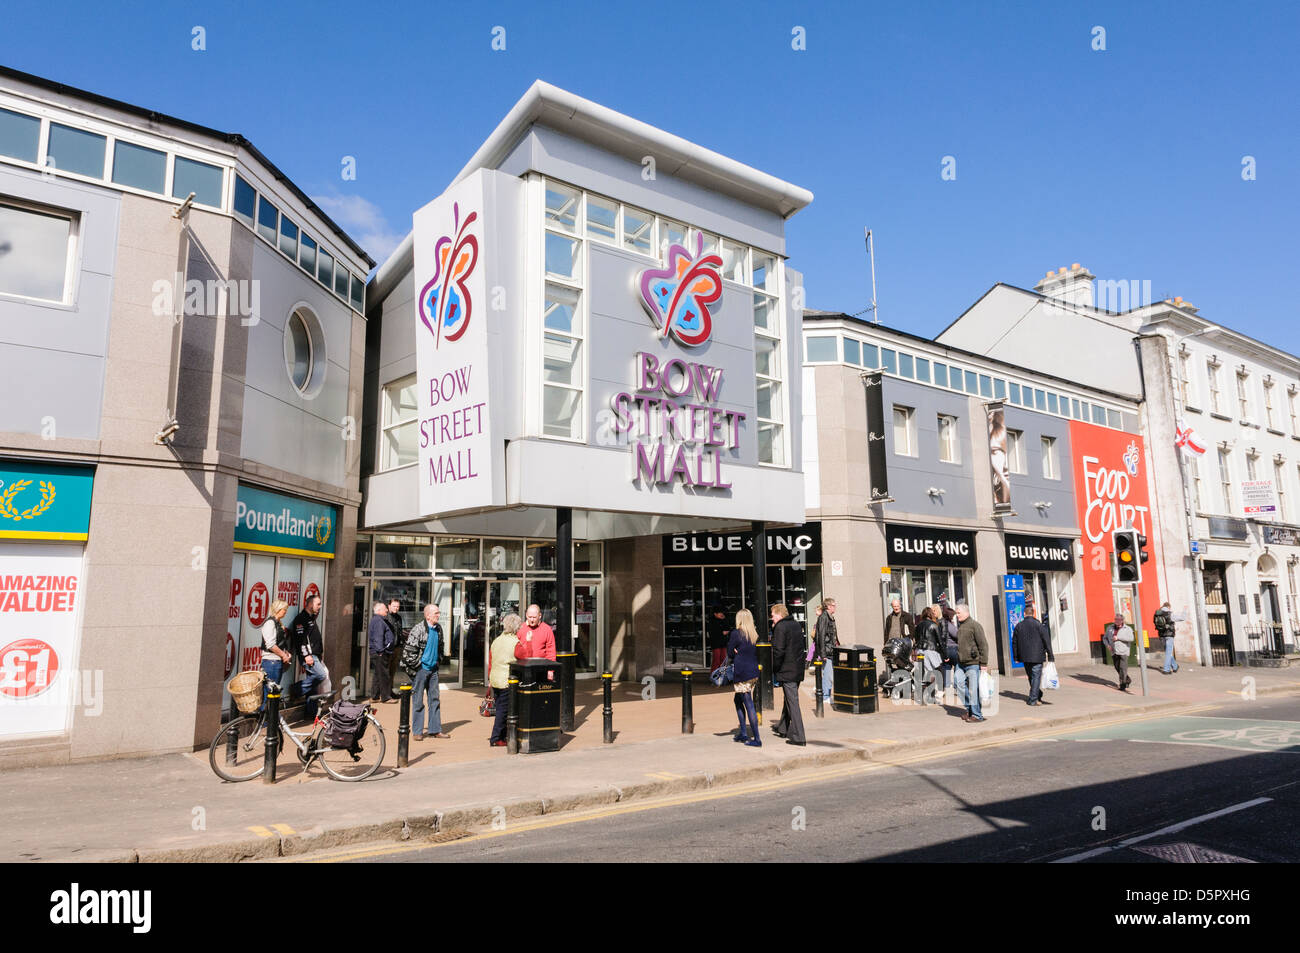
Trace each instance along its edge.
{"label": "Blue Inc black shopfront nearest the mall entrance, behind black pillar", "polygon": [[[710,620],[722,611],[727,629],[754,605],[753,537],[749,533],[675,533],[663,537],[664,663],[706,664]],[[822,524],[767,530],[767,605],[784,603],[805,625],[822,599]],[[766,619],[754,620],[760,636]]]}

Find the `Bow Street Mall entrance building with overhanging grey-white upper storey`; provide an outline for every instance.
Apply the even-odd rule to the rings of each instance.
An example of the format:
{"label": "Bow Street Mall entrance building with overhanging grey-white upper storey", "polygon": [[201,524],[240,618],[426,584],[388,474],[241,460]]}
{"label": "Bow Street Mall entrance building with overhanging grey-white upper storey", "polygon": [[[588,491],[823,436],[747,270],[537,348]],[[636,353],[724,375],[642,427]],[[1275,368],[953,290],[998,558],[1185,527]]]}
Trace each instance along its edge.
{"label": "Bow Street Mall entrance building with overhanging grey-white upper storey", "polygon": [[803,520],[810,200],[536,83],[369,289],[364,615],[441,605],[452,683],[529,602],[575,667],[662,671],[660,536]]}

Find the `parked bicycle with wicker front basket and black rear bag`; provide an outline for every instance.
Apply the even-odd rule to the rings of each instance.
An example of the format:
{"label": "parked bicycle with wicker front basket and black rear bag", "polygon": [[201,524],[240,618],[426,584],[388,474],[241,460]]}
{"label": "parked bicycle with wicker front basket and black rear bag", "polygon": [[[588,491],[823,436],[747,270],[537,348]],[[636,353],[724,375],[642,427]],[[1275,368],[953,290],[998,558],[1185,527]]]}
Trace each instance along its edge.
{"label": "parked bicycle with wicker front basket and black rear bag", "polygon": [[[313,696],[318,705],[333,698],[337,692]],[[334,706],[318,711],[311,728],[295,732],[280,714],[280,737],[276,741],[276,757],[285,750],[287,736],[298,751],[298,761],[306,771],[313,761],[318,761],[325,774],[335,781],[364,781],[380,770],[384,762],[384,728],[370,706],[365,706],[365,720],[369,725],[361,736],[361,744],[352,748],[334,748],[329,744],[330,712]],[[251,781],[266,770],[266,714],[244,715],[229,722],[208,746],[208,763],[217,777],[225,781]],[[367,757],[361,757],[363,753]]]}

